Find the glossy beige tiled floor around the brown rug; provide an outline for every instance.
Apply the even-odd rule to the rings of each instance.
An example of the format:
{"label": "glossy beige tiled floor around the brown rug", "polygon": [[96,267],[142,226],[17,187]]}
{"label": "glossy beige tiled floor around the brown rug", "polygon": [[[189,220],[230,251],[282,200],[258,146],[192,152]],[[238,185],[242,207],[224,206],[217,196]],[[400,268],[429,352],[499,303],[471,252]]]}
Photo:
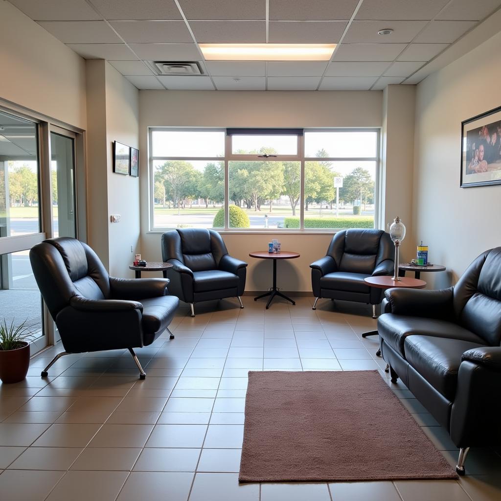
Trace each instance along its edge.
{"label": "glossy beige tiled floor around the brown rug", "polygon": [[[298,298],[179,310],[137,354],[69,355],[41,379],[56,348],[36,357],[25,382],[0,386],[2,501],[487,501],[501,498],[501,457],[471,450],[458,481],[238,485],[248,370],[378,369],[444,455],[457,450],[413,395],[391,385],[375,356],[365,306]],[[61,348],[59,348],[61,349]],[[409,451],[412,461],[412,451]],[[374,465],[377,468],[377,464]]]}

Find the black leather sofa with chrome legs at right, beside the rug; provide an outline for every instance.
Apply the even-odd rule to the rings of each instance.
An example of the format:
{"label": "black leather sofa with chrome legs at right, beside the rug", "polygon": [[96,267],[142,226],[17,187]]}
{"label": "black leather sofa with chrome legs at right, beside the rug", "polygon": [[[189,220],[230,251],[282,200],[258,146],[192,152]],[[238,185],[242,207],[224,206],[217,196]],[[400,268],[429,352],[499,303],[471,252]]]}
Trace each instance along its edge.
{"label": "black leather sofa with chrome legs at right, beside the rug", "polygon": [[459,447],[501,445],[501,247],[454,287],[389,289],[378,319],[391,381],[400,377]]}

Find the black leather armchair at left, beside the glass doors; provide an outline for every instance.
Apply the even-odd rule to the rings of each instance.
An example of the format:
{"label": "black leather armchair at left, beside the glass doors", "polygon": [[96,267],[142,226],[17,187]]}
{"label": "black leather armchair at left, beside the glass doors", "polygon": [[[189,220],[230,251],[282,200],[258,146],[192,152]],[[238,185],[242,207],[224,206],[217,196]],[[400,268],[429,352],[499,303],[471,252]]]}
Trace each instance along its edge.
{"label": "black leather armchair at left, beside the glass doors", "polygon": [[167,329],[179,305],[166,296],[168,280],[110,277],[96,253],[75,238],[44,240],[30,250],[42,297],[59,330],[64,355],[127,348],[146,374],[133,348],[150,345]]}

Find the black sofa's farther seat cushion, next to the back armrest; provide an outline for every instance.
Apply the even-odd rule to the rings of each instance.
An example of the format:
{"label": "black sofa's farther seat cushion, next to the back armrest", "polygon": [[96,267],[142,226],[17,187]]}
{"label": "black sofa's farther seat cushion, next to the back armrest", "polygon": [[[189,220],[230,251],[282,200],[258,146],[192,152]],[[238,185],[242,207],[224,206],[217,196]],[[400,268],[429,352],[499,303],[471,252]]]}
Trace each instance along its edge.
{"label": "black sofa's farther seat cushion, next to the back armrest", "polygon": [[445,320],[385,313],[378,318],[377,326],[384,341],[404,358],[405,338],[411,335],[457,339],[485,345],[485,341],[476,334]]}

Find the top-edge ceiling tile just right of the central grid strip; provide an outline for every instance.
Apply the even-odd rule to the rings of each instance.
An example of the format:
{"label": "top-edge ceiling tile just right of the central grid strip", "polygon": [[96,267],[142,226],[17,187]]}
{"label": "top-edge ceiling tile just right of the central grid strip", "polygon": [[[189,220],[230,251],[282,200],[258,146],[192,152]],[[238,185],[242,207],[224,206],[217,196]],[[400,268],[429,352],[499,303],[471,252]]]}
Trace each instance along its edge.
{"label": "top-edge ceiling tile just right of the central grid strip", "polygon": [[270,20],[348,21],[358,0],[270,0]]}

